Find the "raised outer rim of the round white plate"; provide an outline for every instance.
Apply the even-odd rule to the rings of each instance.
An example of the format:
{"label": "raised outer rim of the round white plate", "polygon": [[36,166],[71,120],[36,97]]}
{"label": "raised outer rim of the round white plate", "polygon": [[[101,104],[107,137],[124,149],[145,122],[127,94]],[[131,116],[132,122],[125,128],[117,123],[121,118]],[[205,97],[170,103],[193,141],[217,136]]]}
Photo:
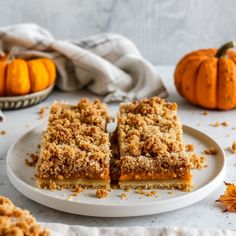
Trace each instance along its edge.
{"label": "raised outer rim of the round white plate", "polygon": [[[22,193],[27,198],[29,198],[29,199],[31,199],[31,200],[39,203],[39,204],[45,205],[47,207],[50,207],[50,208],[53,208],[53,209],[56,209],[56,210],[60,210],[60,211],[68,212],[68,213],[73,213],[73,214],[88,215],[88,216],[99,216],[99,217],[108,217],[108,216],[109,217],[126,217],[126,216],[141,216],[141,215],[158,214],[158,213],[163,213],[163,212],[168,212],[168,211],[184,208],[184,207],[187,207],[189,205],[192,205],[192,204],[194,204],[194,203],[204,199],[205,197],[209,196],[213,191],[215,191],[219,187],[220,183],[223,181],[223,178],[224,178],[225,168],[226,168],[226,158],[225,158],[225,152],[224,152],[223,148],[211,136],[209,136],[208,134],[205,134],[204,132],[202,132],[202,131],[200,131],[200,130],[198,130],[196,128],[193,128],[191,126],[183,124],[182,125],[183,131],[194,132],[194,133],[200,134],[201,136],[205,136],[208,140],[213,142],[214,145],[217,146],[218,150],[220,151],[220,156],[221,156],[220,159],[221,159],[221,162],[222,162],[221,163],[222,165],[220,166],[220,169],[218,170],[217,174],[214,175],[213,179],[211,179],[207,184],[205,184],[204,186],[200,187],[199,189],[193,190],[192,192],[186,192],[186,195],[177,196],[177,197],[174,197],[174,198],[171,198],[171,199],[158,200],[158,201],[155,201],[155,202],[144,202],[141,205],[140,204],[119,205],[119,204],[102,204],[102,203],[101,204],[100,203],[99,204],[92,204],[92,203],[68,201],[67,199],[62,199],[62,198],[57,197],[57,196],[51,196],[51,195],[49,195],[49,194],[47,194],[45,192],[40,191],[40,189],[37,189],[36,187],[33,187],[33,186],[27,184],[26,182],[24,182],[21,178],[19,178],[13,172],[13,170],[11,169],[10,164],[9,164],[9,159],[10,159],[11,153],[12,153],[15,145],[23,137],[25,137],[28,133],[32,132],[33,130],[36,130],[36,129],[40,128],[44,124],[45,124],[45,122],[42,122],[40,125],[35,126],[32,129],[28,130],[27,132],[22,134],[11,145],[11,147],[8,150],[7,158],[6,158],[7,175],[8,175],[8,178],[10,179],[11,184],[20,193]],[[210,190],[208,190],[207,193],[205,193],[207,189],[210,189]],[[42,197],[42,198],[46,198],[46,199],[40,201],[40,200],[36,199],[36,197],[32,197],[32,195],[29,196],[30,194],[27,193],[27,191],[30,191],[32,194],[37,194],[39,196],[39,198]],[[196,200],[196,198],[197,198],[197,200]],[[158,207],[159,205],[172,204],[172,203],[174,203],[176,201],[184,201],[186,199],[187,200],[188,199],[191,199],[191,200],[194,199],[194,200],[192,200],[192,201],[188,200],[188,203],[182,204],[180,206],[177,206],[177,204],[176,204],[176,207],[172,207],[169,210],[157,211],[156,213],[148,213],[148,214],[140,213],[140,214],[123,214],[123,215],[119,214],[119,215],[114,215],[114,214],[85,214],[85,213],[81,213],[81,212],[80,213],[76,213],[75,211],[71,212],[71,211],[67,211],[66,209],[61,209],[60,206],[55,208],[55,207],[52,207],[51,205],[45,203],[45,202],[52,201],[52,200],[55,201],[55,199],[57,201],[61,201],[61,202],[66,203],[66,204],[82,206],[82,207],[96,206],[98,208],[102,208],[102,207],[108,207],[108,208],[122,208],[122,207],[126,208],[126,207],[130,207],[130,208],[135,208],[135,207],[150,207],[150,206]]]}

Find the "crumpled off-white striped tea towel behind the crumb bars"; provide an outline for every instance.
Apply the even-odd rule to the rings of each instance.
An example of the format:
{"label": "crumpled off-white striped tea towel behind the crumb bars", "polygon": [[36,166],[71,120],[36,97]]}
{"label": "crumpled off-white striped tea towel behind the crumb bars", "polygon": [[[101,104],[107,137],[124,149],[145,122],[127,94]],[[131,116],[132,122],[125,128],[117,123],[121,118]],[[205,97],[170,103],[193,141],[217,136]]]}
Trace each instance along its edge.
{"label": "crumpled off-white striped tea towel behind the crumb bars", "polygon": [[0,28],[0,44],[4,50],[19,47],[17,56],[24,58],[52,58],[57,86],[64,91],[86,87],[104,95],[105,102],[167,96],[155,68],[120,35],[100,34],[72,42],[55,39],[36,24],[18,24]]}

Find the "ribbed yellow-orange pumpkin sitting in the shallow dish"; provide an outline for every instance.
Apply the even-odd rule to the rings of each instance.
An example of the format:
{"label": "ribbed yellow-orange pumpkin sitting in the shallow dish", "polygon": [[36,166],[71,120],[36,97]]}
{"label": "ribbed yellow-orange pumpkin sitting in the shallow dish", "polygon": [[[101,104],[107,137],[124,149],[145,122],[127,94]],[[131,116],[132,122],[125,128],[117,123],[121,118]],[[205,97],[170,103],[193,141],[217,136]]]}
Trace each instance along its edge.
{"label": "ribbed yellow-orange pumpkin sitting in the shallow dish", "polygon": [[56,66],[51,59],[24,60],[0,58],[0,96],[19,96],[48,88],[56,80]]}

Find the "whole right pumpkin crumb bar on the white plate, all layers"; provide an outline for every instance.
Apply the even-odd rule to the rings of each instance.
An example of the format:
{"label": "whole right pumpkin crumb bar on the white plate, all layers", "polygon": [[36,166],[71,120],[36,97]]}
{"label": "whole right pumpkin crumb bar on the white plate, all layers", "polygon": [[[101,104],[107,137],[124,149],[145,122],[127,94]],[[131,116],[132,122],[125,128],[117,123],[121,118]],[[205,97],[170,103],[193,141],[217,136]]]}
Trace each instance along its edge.
{"label": "whole right pumpkin crumb bar on the white plate, all layers", "polygon": [[191,165],[175,103],[153,97],[121,104],[118,143],[121,188],[191,190]]}

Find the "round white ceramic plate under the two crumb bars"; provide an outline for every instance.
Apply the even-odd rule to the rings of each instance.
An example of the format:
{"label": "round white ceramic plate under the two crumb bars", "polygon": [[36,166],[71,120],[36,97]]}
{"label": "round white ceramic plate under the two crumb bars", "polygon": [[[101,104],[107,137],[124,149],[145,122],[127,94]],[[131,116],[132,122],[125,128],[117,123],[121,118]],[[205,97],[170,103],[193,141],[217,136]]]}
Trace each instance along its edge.
{"label": "round white ceramic plate under the two crumb bars", "polygon": [[215,147],[218,150],[217,155],[206,156],[207,168],[193,171],[195,187],[192,192],[157,190],[158,197],[146,197],[130,191],[126,193],[128,198],[121,200],[119,197],[121,190],[113,190],[107,198],[103,199],[95,197],[95,190],[87,190],[70,199],[68,196],[71,192],[68,190],[50,191],[36,188],[34,168],[25,164],[27,153],[37,150],[43,128],[44,125],[34,128],[12,145],[7,155],[7,172],[11,183],[22,194],[60,211],[101,217],[141,216],[167,212],[200,201],[211,194],[223,181],[225,157],[222,148],[206,134],[183,126],[185,143],[194,144],[198,154],[207,147]]}

